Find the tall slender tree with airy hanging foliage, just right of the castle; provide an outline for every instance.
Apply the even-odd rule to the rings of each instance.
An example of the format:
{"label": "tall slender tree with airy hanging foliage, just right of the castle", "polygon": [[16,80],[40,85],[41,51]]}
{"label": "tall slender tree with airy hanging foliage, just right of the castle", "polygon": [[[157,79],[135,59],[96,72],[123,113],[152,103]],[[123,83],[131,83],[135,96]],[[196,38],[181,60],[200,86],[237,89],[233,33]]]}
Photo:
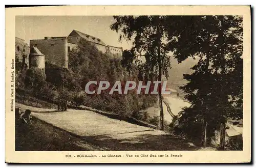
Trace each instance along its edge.
{"label": "tall slender tree with airy hanging foliage, just right of the castle", "polygon": [[[111,29],[121,32],[120,38],[133,41],[133,47],[126,55],[129,59],[137,59],[140,69],[148,75],[149,80],[162,80],[164,74],[168,78],[170,68],[167,54],[173,48],[173,25],[176,17],[172,16],[114,16],[115,23]],[[133,55],[133,57],[131,57]],[[143,55],[145,62],[138,58]],[[146,76],[147,77],[147,76]],[[160,129],[163,130],[163,106],[161,83],[159,83]]]}

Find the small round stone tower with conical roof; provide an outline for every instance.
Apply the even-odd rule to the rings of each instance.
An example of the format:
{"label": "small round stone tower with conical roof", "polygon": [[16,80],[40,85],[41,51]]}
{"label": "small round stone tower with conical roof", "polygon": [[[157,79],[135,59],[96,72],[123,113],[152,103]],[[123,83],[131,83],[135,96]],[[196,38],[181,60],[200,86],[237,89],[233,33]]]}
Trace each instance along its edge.
{"label": "small round stone tower with conical roof", "polygon": [[29,53],[29,68],[37,67],[45,69],[45,55],[38,48],[32,46]]}

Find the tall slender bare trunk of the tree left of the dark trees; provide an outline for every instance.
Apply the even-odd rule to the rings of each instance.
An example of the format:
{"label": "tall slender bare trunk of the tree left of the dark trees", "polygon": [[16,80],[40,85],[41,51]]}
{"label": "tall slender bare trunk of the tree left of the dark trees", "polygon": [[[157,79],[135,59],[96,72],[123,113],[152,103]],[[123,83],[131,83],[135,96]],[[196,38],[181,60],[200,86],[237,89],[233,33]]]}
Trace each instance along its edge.
{"label": "tall slender bare trunk of the tree left of the dark trees", "polygon": [[163,102],[162,102],[162,62],[161,62],[161,32],[159,25],[157,26],[157,56],[158,56],[158,81],[160,81],[158,88],[159,109],[160,109],[160,130],[164,130],[163,126]]}

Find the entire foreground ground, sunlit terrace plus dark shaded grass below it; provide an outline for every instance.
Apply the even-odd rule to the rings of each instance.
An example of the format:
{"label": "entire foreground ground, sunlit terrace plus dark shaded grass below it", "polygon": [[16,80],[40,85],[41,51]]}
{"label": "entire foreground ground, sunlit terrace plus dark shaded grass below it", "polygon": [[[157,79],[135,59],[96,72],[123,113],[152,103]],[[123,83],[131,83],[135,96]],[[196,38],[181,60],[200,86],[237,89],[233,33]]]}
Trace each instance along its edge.
{"label": "entire foreground ground, sunlit terrace plus dark shaded grass below it", "polygon": [[[29,108],[27,106],[26,108]],[[40,110],[41,111],[41,110]],[[20,134],[19,150],[200,150],[186,139],[125,121],[115,120],[88,110],[32,112],[26,142]],[[38,120],[39,119],[39,120]],[[49,124],[47,124],[49,123]],[[27,136],[28,137],[28,136]],[[26,142],[24,144],[24,142]],[[93,144],[93,145],[92,145]]]}

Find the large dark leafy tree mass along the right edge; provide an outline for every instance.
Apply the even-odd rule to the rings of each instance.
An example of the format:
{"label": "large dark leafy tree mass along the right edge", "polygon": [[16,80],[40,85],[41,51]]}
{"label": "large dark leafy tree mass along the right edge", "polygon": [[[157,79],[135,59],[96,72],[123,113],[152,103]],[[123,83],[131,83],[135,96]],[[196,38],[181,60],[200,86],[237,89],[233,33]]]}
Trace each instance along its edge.
{"label": "large dark leafy tree mass along the right edge", "polygon": [[[183,16],[178,23],[174,56],[179,62],[197,57],[194,73],[181,89],[191,106],[183,110],[183,122],[201,123],[202,144],[221,130],[224,149],[225,123],[242,118],[243,27],[238,16]],[[207,129],[206,129],[207,125]],[[188,129],[193,129],[189,127]],[[207,136],[205,135],[207,132]]]}

